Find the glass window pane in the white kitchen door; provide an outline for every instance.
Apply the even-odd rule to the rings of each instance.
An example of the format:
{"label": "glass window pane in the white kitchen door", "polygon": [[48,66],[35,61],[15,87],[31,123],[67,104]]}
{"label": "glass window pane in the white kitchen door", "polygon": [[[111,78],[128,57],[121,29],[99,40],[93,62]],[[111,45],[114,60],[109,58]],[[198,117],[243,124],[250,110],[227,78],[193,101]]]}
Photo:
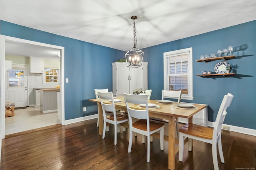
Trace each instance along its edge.
{"label": "glass window pane in the white kitchen door", "polygon": [[8,72],[8,88],[24,87],[24,70],[12,69]]}

